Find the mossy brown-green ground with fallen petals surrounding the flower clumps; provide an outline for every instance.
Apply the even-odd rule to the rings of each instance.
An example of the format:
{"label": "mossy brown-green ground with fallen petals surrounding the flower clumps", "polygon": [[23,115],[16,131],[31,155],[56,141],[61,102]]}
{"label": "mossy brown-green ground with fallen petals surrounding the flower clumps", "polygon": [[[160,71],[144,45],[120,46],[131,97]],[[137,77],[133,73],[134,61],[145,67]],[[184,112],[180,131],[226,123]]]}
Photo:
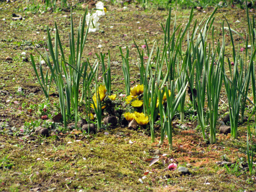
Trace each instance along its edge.
{"label": "mossy brown-green ground with fallen petals surrounding the flower clumps", "polygon": [[[255,191],[255,165],[251,177],[247,164],[246,123],[239,124],[236,139],[217,131],[216,143],[211,145],[203,140],[195,111],[186,107],[186,121],[181,123],[177,117],[173,121],[172,151],[168,150],[167,138],[163,145],[158,144],[160,128],[157,124],[154,143],[151,142],[150,130],[143,127],[130,130],[127,126],[111,128],[104,125],[95,135],[51,128],[42,116],[47,115],[51,119],[59,112],[58,98],[45,99],[29,54],[32,53],[39,62],[34,45],[39,52],[44,52],[44,46],[47,46],[46,26],[54,35],[55,21],[64,50],[68,52],[70,12],[47,11],[44,4],[22,2],[0,2],[3,13],[0,16],[2,191]],[[93,63],[97,59],[95,53],[108,54],[110,50],[112,90],[123,101],[119,96],[125,94],[119,47],[129,48],[131,86],[139,84],[138,53],[132,38],[141,49],[144,39],[147,39],[149,47],[153,46],[154,40],[162,41],[160,23],[166,22],[168,10],[154,6],[145,9],[134,2],[125,4],[127,9],[107,2],[105,6],[107,14],[101,18],[100,30],[88,35],[82,59],[88,57]],[[195,9],[195,18],[200,21],[213,11],[214,7]],[[174,25],[176,15],[176,23],[185,27],[189,13],[189,9],[173,7],[171,25]],[[12,14],[21,15],[24,19],[15,20]],[[73,9],[75,28],[78,28],[83,14],[80,3]],[[236,6],[219,7],[214,21],[216,41],[222,38],[223,15],[231,28],[246,35],[245,10]],[[250,17],[253,15],[251,10]],[[231,57],[228,32],[226,37],[226,56]],[[234,41],[236,47],[242,44],[242,39],[236,34]],[[57,91],[52,87],[50,93]],[[189,96],[186,96],[186,104],[189,106]],[[224,85],[219,108],[221,119],[228,112]],[[249,116],[252,107],[248,104],[247,108],[246,116]],[[79,114],[85,115],[83,106],[80,106]],[[39,125],[49,128],[50,137],[35,134]],[[253,141],[256,142],[255,132]],[[151,158],[157,162],[149,166]],[[168,169],[170,163],[188,168],[189,174]]]}

